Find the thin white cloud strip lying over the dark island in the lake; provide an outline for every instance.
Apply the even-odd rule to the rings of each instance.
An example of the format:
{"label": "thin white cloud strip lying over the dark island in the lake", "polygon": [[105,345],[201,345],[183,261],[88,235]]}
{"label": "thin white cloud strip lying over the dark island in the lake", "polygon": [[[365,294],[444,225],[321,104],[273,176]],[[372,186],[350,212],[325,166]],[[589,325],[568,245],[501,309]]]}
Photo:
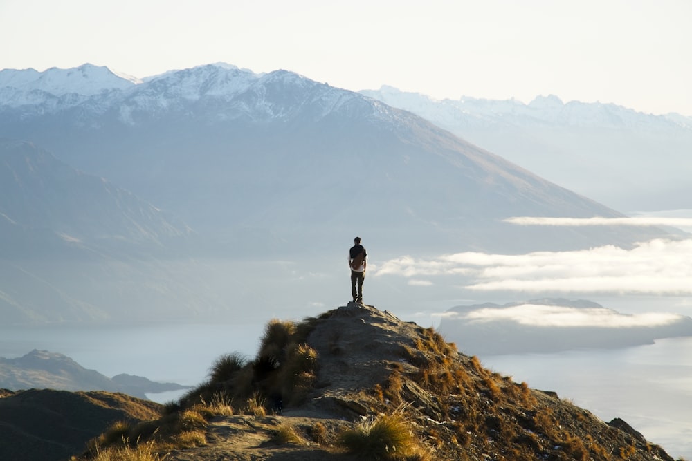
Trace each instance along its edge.
{"label": "thin white cloud strip lying over the dark island in the lake", "polygon": [[480,308],[459,317],[471,322],[513,321],[525,326],[594,328],[664,326],[682,318],[677,314],[626,315],[606,308],[572,308],[530,303],[508,308]]}

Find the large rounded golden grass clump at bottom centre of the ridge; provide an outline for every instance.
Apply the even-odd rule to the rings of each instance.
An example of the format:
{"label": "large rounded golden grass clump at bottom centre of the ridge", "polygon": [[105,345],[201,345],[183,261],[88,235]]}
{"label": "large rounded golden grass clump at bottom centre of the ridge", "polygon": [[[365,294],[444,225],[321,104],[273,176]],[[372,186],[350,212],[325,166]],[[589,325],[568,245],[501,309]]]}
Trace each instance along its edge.
{"label": "large rounded golden grass clump at bottom centre of the ridge", "polygon": [[426,460],[424,445],[401,413],[380,415],[338,435],[337,443],[348,453],[376,460]]}

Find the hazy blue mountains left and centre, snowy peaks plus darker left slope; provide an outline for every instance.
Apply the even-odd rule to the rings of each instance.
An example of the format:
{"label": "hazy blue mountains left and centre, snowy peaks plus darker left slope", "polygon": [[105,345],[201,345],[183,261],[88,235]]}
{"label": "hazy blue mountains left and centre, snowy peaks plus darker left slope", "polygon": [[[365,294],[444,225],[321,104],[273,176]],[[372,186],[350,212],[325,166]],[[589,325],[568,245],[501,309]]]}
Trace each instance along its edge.
{"label": "hazy blue mountains left and centre, snowy peaks plus darker left slope", "polygon": [[[622,215],[417,115],[286,70],[208,65],[144,81],[88,64],[2,70],[0,137],[10,322],[207,316],[239,294],[213,271],[212,283],[202,258],[322,260],[356,234],[380,257],[668,235],[506,223]],[[64,265],[75,259],[86,263]]]}

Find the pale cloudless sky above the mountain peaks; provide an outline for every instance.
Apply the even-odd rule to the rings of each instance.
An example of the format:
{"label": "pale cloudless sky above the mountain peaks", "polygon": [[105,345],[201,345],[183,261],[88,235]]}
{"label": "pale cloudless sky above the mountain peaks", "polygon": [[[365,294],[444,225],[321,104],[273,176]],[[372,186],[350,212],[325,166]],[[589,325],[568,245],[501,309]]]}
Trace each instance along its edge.
{"label": "pale cloudless sky above the mountain peaks", "polygon": [[353,91],[692,116],[691,20],[689,0],[0,0],[0,69],[227,62]]}

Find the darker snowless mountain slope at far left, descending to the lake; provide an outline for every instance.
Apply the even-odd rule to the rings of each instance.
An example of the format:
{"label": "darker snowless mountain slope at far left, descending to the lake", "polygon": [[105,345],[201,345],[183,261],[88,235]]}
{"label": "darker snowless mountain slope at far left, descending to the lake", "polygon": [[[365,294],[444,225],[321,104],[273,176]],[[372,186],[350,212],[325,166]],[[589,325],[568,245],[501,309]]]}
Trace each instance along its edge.
{"label": "darker snowless mountain slope at far left, descending to the lake", "polygon": [[28,142],[0,140],[0,236],[6,324],[219,309],[190,227]]}

